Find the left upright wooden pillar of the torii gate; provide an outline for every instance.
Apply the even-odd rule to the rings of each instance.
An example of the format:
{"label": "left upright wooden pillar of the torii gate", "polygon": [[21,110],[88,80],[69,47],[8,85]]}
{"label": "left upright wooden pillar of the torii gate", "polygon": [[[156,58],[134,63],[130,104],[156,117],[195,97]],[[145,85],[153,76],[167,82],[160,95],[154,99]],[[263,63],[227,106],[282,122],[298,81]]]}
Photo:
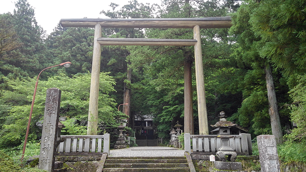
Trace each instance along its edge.
{"label": "left upright wooden pillar of the torii gate", "polygon": [[102,36],[102,27],[95,25],[94,47],[92,54],[91,82],[88,109],[87,135],[97,135],[98,127],[98,98],[99,98],[99,80],[101,63],[101,45],[97,42]]}

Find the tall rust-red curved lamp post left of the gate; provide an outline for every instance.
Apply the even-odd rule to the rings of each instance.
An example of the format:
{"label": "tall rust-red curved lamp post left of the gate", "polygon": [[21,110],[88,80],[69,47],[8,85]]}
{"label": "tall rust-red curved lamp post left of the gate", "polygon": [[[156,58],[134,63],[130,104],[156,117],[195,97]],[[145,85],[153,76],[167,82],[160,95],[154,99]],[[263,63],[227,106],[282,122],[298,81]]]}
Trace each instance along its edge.
{"label": "tall rust-red curved lamp post left of the gate", "polygon": [[[58,64],[58,65],[55,65],[55,66],[51,66],[49,68],[53,68],[53,67],[56,67],[56,66],[64,66],[65,68],[69,68],[71,66],[71,62],[68,61],[68,62],[61,63],[61,64]],[[45,68],[41,72],[43,72],[44,70],[49,69],[49,68]],[[25,134],[24,145],[23,145],[23,149],[22,149],[21,161],[23,160],[24,152],[25,152],[25,147],[27,145],[27,140],[28,140],[28,135],[29,135],[29,130],[30,130],[30,123],[31,123],[31,118],[32,118],[32,112],[33,112],[33,106],[34,106],[34,101],[35,101],[35,95],[36,95],[36,90],[37,90],[37,85],[38,85],[38,79],[39,79],[39,75],[41,74],[41,72],[38,74],[37,81],[35,83],[35,89],[34,89],[34,95],[33,95],[33,100],[32,100],[32,106],[31,106],[30,115],[29,115],[29,121],[28,121],[28,127],[27,127],[27,132]]]}

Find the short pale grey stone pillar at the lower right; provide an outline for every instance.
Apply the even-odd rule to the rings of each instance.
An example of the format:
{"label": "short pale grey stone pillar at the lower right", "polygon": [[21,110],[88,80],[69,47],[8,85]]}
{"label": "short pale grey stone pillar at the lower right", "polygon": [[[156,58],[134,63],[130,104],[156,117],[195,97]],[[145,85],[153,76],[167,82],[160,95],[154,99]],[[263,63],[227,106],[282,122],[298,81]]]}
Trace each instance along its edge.
{"label": "short pale grey stone pillar at the lower right", "polygon": [[280,172],[276,140],[273,135],[257,136],[259,161],[262,172]]}

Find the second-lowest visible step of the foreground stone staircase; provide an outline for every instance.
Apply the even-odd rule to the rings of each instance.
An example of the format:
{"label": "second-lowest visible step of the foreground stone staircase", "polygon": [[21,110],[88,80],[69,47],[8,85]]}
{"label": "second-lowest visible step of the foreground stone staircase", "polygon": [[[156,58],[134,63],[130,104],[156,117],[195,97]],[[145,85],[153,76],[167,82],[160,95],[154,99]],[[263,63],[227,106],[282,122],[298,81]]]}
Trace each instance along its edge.
{"label": "second-lowest visible step of the foreground stone staircase", "polygon": [[104,168],[188,168],[187,163],[104,164]]}

